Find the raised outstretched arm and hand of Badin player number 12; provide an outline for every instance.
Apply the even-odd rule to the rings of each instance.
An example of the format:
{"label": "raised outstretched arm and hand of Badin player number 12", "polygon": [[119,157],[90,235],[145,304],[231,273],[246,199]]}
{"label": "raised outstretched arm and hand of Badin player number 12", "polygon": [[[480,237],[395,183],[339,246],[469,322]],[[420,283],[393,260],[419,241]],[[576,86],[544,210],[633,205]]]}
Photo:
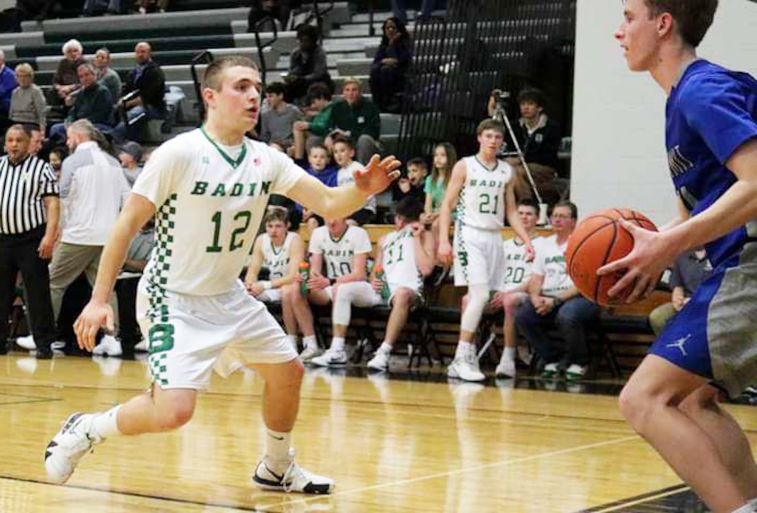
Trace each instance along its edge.
{"label": "raised outstretched arm and hand of Badin player number 12", "polygon": [[347,217],[360,210],[369,196],[383,191],[397,179],[400,176],[398,167],[400,161],[393,155],[384,160],[374,155],[366,169],[354,172],[354,183],[326,187],[319,179],[305,175],[289,189],[287,196],[319,216],[330,219]]}

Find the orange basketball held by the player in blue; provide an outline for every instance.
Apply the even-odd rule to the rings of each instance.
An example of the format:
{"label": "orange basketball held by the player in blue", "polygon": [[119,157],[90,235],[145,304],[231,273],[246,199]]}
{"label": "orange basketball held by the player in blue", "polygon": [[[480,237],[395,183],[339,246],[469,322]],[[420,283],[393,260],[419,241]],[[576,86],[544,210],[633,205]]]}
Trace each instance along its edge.
{"label": "orange basketball held by the player in blue", "polygon": [[618,222],[620,219],[634,222],[646,230],[657,231],[650,219],[635,210],[609,208],[595,212],[579,223],[568,239],[568,250],[565,251],[565,265],[575,287],[588,300],[602,306],[625,303],[631,293],[629,287],[610,299],[607,291],[621,278],[621,274],[597,275],[597,269],[625,257],[634,247],[634,238]]}

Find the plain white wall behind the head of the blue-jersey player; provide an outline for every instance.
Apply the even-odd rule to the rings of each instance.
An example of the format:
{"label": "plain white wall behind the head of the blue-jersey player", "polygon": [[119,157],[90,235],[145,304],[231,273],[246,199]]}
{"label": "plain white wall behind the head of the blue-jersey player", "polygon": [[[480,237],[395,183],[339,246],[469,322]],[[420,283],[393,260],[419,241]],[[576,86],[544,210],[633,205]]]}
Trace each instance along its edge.
{"label": "plain white wall behind the head of the blue-jersey player", "polygon": [[[581,216],[631,207],[658,225],[674,215],[665,155],[665,92],[632,73],[613,33],[617,0],[578,0],[571,197]],[[757,3],[721,0],[699,56],[757,76]]]}

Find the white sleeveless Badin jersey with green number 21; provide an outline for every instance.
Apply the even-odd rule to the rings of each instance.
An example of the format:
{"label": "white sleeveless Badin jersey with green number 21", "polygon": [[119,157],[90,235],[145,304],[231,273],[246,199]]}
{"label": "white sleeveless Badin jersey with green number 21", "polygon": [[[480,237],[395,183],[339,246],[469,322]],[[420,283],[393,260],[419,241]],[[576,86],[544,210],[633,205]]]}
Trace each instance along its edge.
{"label": "white sleeveless Badin jersey with green number 21", "polygon": [[505,219],[505,189],[512,179],[512,167],[497,160],[488,169],[474,156],[465,157],[466,182],[460,191],[456,221],[481,230],[500,230]]}

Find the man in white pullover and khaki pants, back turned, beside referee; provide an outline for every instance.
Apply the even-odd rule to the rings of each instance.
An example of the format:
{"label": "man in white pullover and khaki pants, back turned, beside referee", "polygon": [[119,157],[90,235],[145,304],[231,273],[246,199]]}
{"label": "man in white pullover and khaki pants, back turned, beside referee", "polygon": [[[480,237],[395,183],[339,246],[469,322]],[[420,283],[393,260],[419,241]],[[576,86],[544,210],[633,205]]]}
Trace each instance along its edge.
{"label": "man in white pullover and khaki pants, back turned, beside referee", "polygon": [[[64,160],[61,171],[61,238],[50,263],[55,319],[61,312],[66,289],[79,275],[85,273],[89,284],[95,284],[102,248],[129,194],[121,166],[101,150],[98,141],[104,136],[92,122],[74,121],[68,126],[67,136],[71,154]],[[111,295],[110,303],[118,319],[115,294]],[[105,350],[109,356],[122,353],[120,342],[111,334],[104,335],[100,344],[102,348],[98,351]],[[35,341],[28,340],[24,347],[34,349]]]}

